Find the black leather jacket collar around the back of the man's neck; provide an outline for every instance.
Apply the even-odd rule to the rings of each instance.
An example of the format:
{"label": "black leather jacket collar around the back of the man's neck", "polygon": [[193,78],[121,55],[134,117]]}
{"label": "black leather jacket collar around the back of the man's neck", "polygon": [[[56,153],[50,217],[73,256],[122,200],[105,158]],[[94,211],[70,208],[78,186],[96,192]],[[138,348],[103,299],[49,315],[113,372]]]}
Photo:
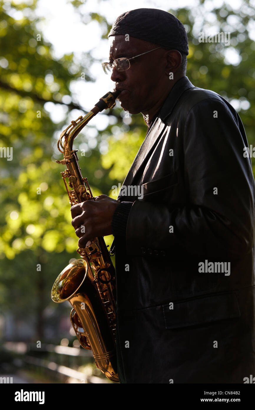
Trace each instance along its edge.
{"label": "black leather jacket collar around the back of the man's neck", "polygon": [[164,104],[160,108],[158,114],[156,115],[158,118],[160,118],[162,121],[165,120],[169,114],[174,109],[174,106],[176,105],[178,99],[181,97],[181,95],[184,93],[189,88],[194,88],[195,86],[190,82],[188,77],[182,77],[180,80],[178,80],[175,84],[172,90],[169,92],[167,98],[165,99]]}

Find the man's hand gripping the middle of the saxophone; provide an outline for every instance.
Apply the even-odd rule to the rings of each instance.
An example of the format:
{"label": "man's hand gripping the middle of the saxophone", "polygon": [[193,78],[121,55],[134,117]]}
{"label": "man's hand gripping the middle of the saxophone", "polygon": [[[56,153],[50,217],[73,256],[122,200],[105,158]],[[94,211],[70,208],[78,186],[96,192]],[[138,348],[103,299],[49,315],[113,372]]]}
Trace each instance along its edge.
{"label": "man's hand gripping the middle of the saxophone", "polygon": [[113,214],[119,201],[107,195],[87,200],[71,207],[72,226],[79,237],[78,245],[84,248],[86,243],[95,237],[111,235]]}

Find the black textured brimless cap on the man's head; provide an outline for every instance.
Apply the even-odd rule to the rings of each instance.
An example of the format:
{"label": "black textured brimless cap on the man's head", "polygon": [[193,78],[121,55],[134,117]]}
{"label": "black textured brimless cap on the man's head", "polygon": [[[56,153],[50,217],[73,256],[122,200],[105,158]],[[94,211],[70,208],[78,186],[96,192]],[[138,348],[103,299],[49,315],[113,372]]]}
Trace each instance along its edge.
{"label": "black textured brimless cap on the man's head", "polygon": [[167,49],[189,54],[183,23],[173,14],[159,9],[135,9],[122,13],[113,23],[108,37],[129,34]]}

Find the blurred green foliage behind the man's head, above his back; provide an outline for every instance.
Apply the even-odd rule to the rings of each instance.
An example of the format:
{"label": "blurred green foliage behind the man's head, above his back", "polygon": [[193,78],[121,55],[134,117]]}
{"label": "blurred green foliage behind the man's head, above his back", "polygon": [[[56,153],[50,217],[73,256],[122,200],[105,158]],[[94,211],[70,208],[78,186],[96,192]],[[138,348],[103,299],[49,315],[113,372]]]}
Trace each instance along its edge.
{"label": "blurred green foliage behind the man's head, above his back", "polygon": [[[205,2],[207,5],[208,3]],[[189,11],[172,11],[187,29],[187,76],[197,87],[211,89],[230,102],[238,100],[238,112],[244,123],[248,141],[252,144],[255,141],[255,42],[250,38],[249,31],[253,27],[255,9],[248,1],[243,2],[238,14],[227,5],[214,9],[212,13],[206,12],[206,9],[205,5],[200,5]],[[194,23],[198,17],[199,24],[196,24],[195,30]],[[198,33],[209,31],[210,27],[214,27],[215,33],[229,33],[230,46],[215,42],[200,43]],[[230,50],[239,56],[239,64],[232,65],[226,61],[226,53]],[[247,102],[250,103],[250,107]]]}

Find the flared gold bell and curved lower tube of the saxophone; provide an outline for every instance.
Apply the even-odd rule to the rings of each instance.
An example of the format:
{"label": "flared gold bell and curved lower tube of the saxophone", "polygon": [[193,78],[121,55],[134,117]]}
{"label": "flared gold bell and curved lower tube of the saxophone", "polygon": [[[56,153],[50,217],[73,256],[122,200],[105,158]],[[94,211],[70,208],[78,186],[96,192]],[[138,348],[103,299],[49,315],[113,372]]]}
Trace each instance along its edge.
{"label": "flared gold bell and curved lower tube of the saxophone", "polygon": [[[73,309],[70,320],[81,346],[92,349],[98,369],[108,379],[118,382],[115,343],[108,328],[104,307],[98,300],[97,286],[87,273],[88,264],[83,259],[74,260],[66,266],[54,282],[52,300],[56,303],[71,303]],[[89,329],[89,333],[85,329]]]}

